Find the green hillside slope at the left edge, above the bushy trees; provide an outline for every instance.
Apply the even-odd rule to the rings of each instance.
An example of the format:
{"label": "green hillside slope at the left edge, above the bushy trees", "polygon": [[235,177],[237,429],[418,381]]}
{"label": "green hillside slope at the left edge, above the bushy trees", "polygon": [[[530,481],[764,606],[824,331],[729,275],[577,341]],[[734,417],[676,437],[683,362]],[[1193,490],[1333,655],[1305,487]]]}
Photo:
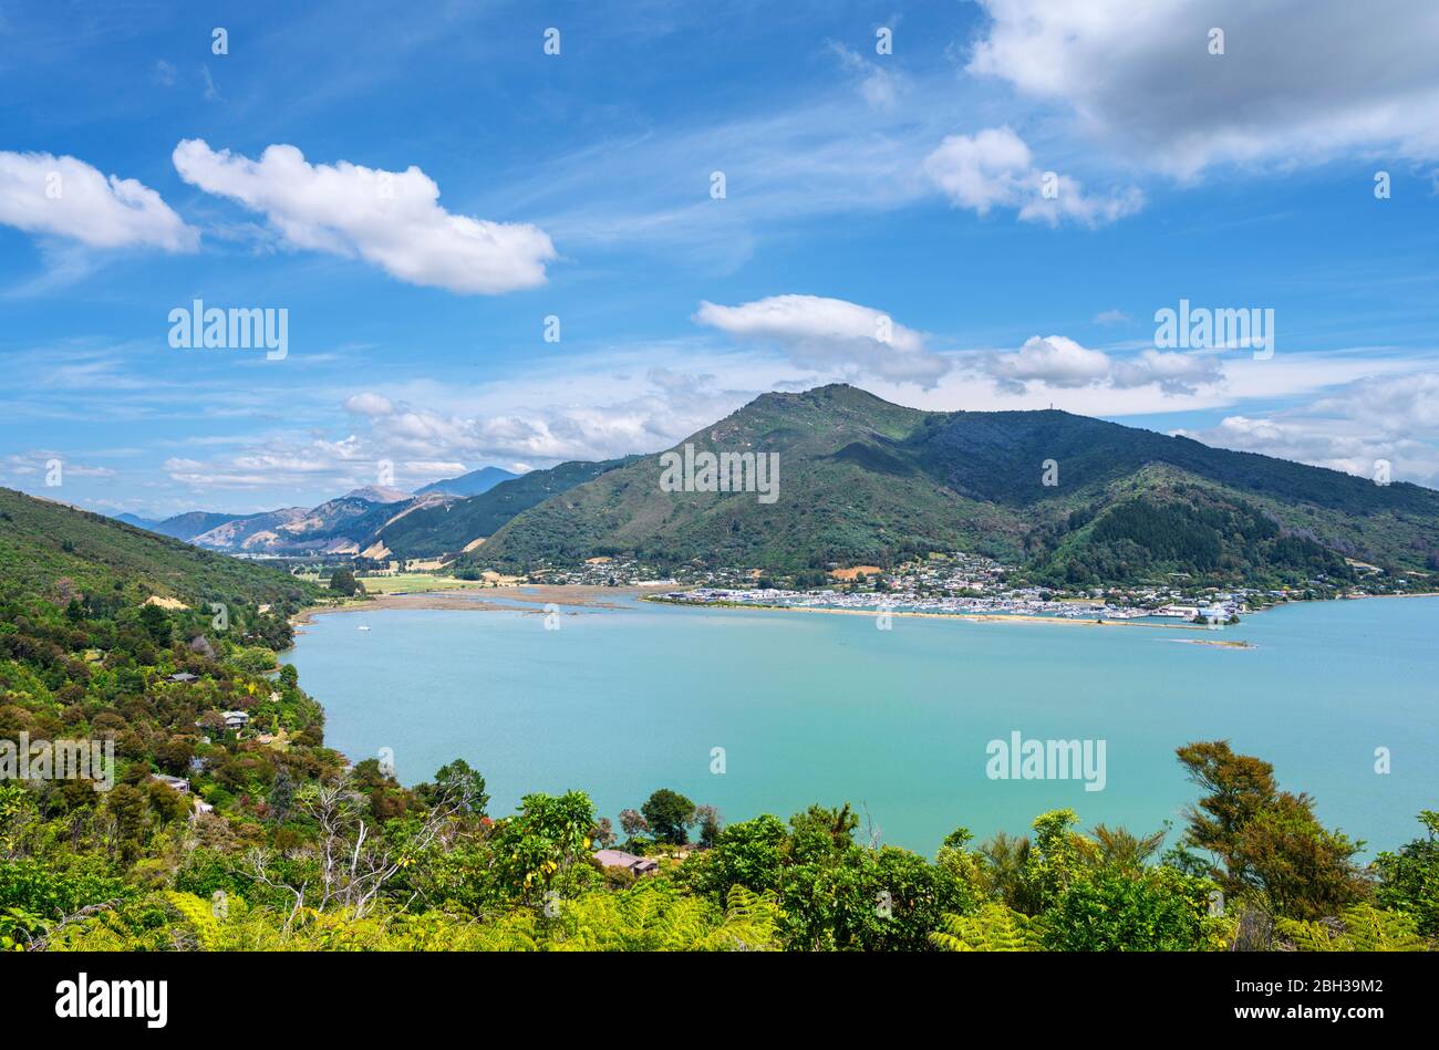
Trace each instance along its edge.
{"label": "green hillside slope at the left edge, above the bushy trees", "polygon": [[260,604],[299,607],[315,595],[281,570],[13,489],[0,489],[0,590],[52,601],[76,593],[131,603],[155,595],[190,607],[223,601],[236,616]]}

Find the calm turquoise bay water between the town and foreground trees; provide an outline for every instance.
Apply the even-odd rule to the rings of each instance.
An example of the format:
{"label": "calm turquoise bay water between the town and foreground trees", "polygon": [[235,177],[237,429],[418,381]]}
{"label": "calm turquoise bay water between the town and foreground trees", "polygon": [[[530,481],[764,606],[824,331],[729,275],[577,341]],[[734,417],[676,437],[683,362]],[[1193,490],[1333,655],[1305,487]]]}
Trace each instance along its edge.
{"label": "calm turquoise bay water between the town and foreground trees", "polygon": [[[319,616],[289,660],[331,747],[353,761],[391,748],[406,784],[462,757],[492,814],[583,788],[616,817],[671,787],[727,821],[849,801],[884,841],[924,853],[960,824],[1025,831],[1063,805],[1085,827],[1148,831],[1196,797],[1174,748],[1213,738],[1274,762],[1367,853],[1417,837],[1415,814],[1439,808],[1439,598],[1295,604],[1213,633],[901,616],[882,631],[868,616],[642,603],[560,624]],[[1104,790],[990,780],[986,745],[1012,731],[1104,739]]]}

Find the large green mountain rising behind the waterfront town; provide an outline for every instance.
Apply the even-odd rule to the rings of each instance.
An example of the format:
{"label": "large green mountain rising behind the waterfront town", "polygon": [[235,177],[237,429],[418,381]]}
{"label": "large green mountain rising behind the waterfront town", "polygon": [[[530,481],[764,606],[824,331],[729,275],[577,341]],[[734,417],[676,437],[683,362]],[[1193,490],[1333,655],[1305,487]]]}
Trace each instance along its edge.
{"label": "large green mountain rising behind the waterfront town", "polygon": [[786,571],[958,549],[1084,584],[1439,564],[1439,492],[1063,411],[927,413],[829,385],[764,394],[675,450],[685,444],[777,453],[778,499],[666,492],[659,455],[643,456],[518,513],[462,562],[636,555]]}

